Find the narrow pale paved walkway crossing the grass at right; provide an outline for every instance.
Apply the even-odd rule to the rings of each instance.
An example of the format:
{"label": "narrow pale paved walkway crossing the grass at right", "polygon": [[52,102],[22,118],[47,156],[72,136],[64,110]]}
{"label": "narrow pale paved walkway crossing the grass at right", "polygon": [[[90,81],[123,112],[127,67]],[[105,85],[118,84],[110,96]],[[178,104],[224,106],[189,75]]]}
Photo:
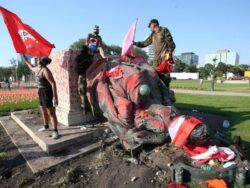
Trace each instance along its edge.
{"label": "narrow pale paved walkway crossing the grass at right", "polygon": [[221,96],[242,96],[250,97],[250,93],[228,92],[228,91],[202,91],[187,89],[172,89],[175,93],[198,94],[198,95],[221,95]]}

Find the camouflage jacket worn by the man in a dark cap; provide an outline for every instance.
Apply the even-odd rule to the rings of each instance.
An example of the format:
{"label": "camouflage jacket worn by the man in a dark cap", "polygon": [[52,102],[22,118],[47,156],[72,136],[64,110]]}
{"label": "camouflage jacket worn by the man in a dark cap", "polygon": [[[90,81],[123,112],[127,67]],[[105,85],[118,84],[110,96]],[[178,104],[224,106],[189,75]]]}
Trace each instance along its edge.
{"label": "camouflage jacket worn by the man in a dark cap", "polygon": [[136,46],[143,48],[150,44],[152,44],[154,48],[153,66],[161,64],[162,58],[165,57],[166,53],[173,52],[175,49],[172,35],[165,27],[160,27],[160,30],[157,33],[151,33],[146,40],[137,42]]}

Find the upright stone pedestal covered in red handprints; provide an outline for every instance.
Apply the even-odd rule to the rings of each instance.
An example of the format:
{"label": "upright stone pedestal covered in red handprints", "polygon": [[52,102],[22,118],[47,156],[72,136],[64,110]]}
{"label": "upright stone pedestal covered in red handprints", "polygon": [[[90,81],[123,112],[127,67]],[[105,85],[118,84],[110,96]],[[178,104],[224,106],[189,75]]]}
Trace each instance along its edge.
{"label": "upright stone pedestal covered in red handprints", "polygon": [[59,104],[56,114],[58,122],[66,126],[79,125],[95,119],[91,112],[87,115],[82,113],[77,89],[78,74],[75,62],[77,54],[78,51],[68,49],[56,52],[50,56],[52,62],[48,66],[57,86]]}

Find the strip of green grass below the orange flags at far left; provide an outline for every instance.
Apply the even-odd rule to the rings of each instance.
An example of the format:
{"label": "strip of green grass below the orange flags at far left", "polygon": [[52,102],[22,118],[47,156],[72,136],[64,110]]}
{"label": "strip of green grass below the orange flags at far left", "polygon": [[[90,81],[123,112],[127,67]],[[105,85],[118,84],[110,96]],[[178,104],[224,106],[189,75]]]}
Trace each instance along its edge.
{"label": "strip of green grass below the orange flags at far left", "polygon": [[26,110],[38,107],[38,99],[33,101],[24,101],[18,103],[3,103],[0,105],[0,112],[13,112],[17,110]]}

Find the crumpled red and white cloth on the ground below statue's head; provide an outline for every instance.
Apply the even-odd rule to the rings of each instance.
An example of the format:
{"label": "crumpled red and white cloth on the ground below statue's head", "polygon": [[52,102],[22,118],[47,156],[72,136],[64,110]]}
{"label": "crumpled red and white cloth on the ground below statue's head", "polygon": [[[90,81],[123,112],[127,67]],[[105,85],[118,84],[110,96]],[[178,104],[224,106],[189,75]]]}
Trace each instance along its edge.
{"label": "crumpled red and white cloth on the ground below statue's head", "polygon": [[204,164],[211,159],[218,159],[221,162],[226,162],[235,157],[235,153],[228,147],[194,146],[186,144],[183,146],[183,149],[186,154],[198,164]]}

